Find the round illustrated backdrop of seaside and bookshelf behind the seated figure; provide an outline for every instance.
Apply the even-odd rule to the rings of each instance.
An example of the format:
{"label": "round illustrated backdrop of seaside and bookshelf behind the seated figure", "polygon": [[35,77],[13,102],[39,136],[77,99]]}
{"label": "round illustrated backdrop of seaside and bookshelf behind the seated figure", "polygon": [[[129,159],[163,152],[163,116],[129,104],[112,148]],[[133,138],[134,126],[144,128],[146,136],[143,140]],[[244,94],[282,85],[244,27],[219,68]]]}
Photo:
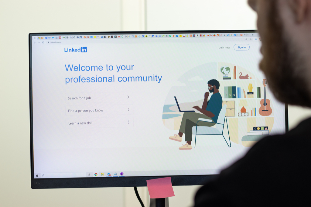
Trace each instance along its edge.
{"label": "round illustrated backdrop of seaside and bookshelf behind the seated figure", "polygon": [[[197,65],[172,83],[163,106],[162,121],[169,130],[179,130],[183,113],[174,96],[180,97],[183,110],[202,106],[207,82],[216,79],[219,92],[226,105],[230,141],[234,145],[253,146],[259,139],[271,133],[274,124],[273,102],[263,79],[256,77],[257,68],[243,68],[234,63],[209,62]],[[266,95],[265,95],[266,94]],[[192,100],[192,101],[190,101]],[[266,104],[266,106],[263,106]],[[213,126],[214,127],[214,126]]]}

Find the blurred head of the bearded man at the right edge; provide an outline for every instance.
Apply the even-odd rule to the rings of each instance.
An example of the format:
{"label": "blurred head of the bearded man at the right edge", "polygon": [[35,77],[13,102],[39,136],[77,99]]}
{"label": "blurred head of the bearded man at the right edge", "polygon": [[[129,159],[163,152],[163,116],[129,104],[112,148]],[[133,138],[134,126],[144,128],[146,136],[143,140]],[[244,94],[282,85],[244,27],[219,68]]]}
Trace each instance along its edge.
{"label": "blurred head of the bearded man at the right edge", "polygon": [[248,0],[258,13],[260,69],[275,97],[311,107],[311,0]]}

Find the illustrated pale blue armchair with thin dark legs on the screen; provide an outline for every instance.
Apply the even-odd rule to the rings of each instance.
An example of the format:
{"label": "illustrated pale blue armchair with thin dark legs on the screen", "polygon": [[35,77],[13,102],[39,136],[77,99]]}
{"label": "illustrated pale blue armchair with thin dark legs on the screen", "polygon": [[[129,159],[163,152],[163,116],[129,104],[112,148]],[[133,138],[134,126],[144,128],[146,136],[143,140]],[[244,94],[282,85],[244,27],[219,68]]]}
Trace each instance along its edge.
{"label": "illustrated pale blue armchair with thin dark legs on the screen", "polygon": [[[217,123],[216,128],[215,127],[207,127],[207,126],[194,126],[192,127],[192,134],[195,134],[195,140],[194,140],[194,148],[195,148],[195,144],[197,141],[197,135],[222,135],[222,137],[224,137],[224,127],[225,127],[225,122],[226,122],[226,126],[227,126],[227,130],[228,130],[228,136],[229,136],[229,143],[230,146],[227,142],[227,140],[225,139],[225,142],[227,143],[228,147],[231,147],[231,141],[230,141],[230,135],[229,135],[229,128],[228,128],[228,122],[227,122],[227,117],[226,115],[226,110],[227,110],[227,105],[222,106],[220,113],[218,115],[218,119],[217,119]],[[197,124],[199,122],[212,122],[212,120],[210,119],[203,119],[203,118],[199,118],[197,121]]]}

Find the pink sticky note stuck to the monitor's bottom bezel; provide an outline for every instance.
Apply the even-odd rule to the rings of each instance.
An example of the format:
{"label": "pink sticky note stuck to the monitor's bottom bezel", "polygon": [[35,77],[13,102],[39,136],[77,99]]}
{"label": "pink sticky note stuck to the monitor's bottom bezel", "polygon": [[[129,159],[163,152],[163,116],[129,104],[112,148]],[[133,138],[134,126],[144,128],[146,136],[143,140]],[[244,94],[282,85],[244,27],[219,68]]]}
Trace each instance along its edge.
{"label": "pink sticky note stuck to the monitor's bottom bezel", "polygon": [[167,198],[175,196],[171,177],[147,180],[150,198]]}

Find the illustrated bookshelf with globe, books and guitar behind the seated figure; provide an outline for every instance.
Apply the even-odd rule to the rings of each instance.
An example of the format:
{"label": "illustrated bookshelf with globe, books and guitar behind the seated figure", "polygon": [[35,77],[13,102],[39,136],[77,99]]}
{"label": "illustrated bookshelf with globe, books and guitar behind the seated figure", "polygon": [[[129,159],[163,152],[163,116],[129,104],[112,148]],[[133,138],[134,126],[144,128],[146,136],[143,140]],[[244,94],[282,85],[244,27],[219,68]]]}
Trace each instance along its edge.
{"label": "illustrated bookshelf with globe, books and guitar behind the seated figure", "polygon": [[[265,88],[266,83],[239,65],[218,62],[217,69],[219,92],[223,97],[223,105],[227,105],[230,139],[243,146],[253,146],[271,132],[274,123],[273,106]],[[267,103],[270,108],[263,106]]]}

